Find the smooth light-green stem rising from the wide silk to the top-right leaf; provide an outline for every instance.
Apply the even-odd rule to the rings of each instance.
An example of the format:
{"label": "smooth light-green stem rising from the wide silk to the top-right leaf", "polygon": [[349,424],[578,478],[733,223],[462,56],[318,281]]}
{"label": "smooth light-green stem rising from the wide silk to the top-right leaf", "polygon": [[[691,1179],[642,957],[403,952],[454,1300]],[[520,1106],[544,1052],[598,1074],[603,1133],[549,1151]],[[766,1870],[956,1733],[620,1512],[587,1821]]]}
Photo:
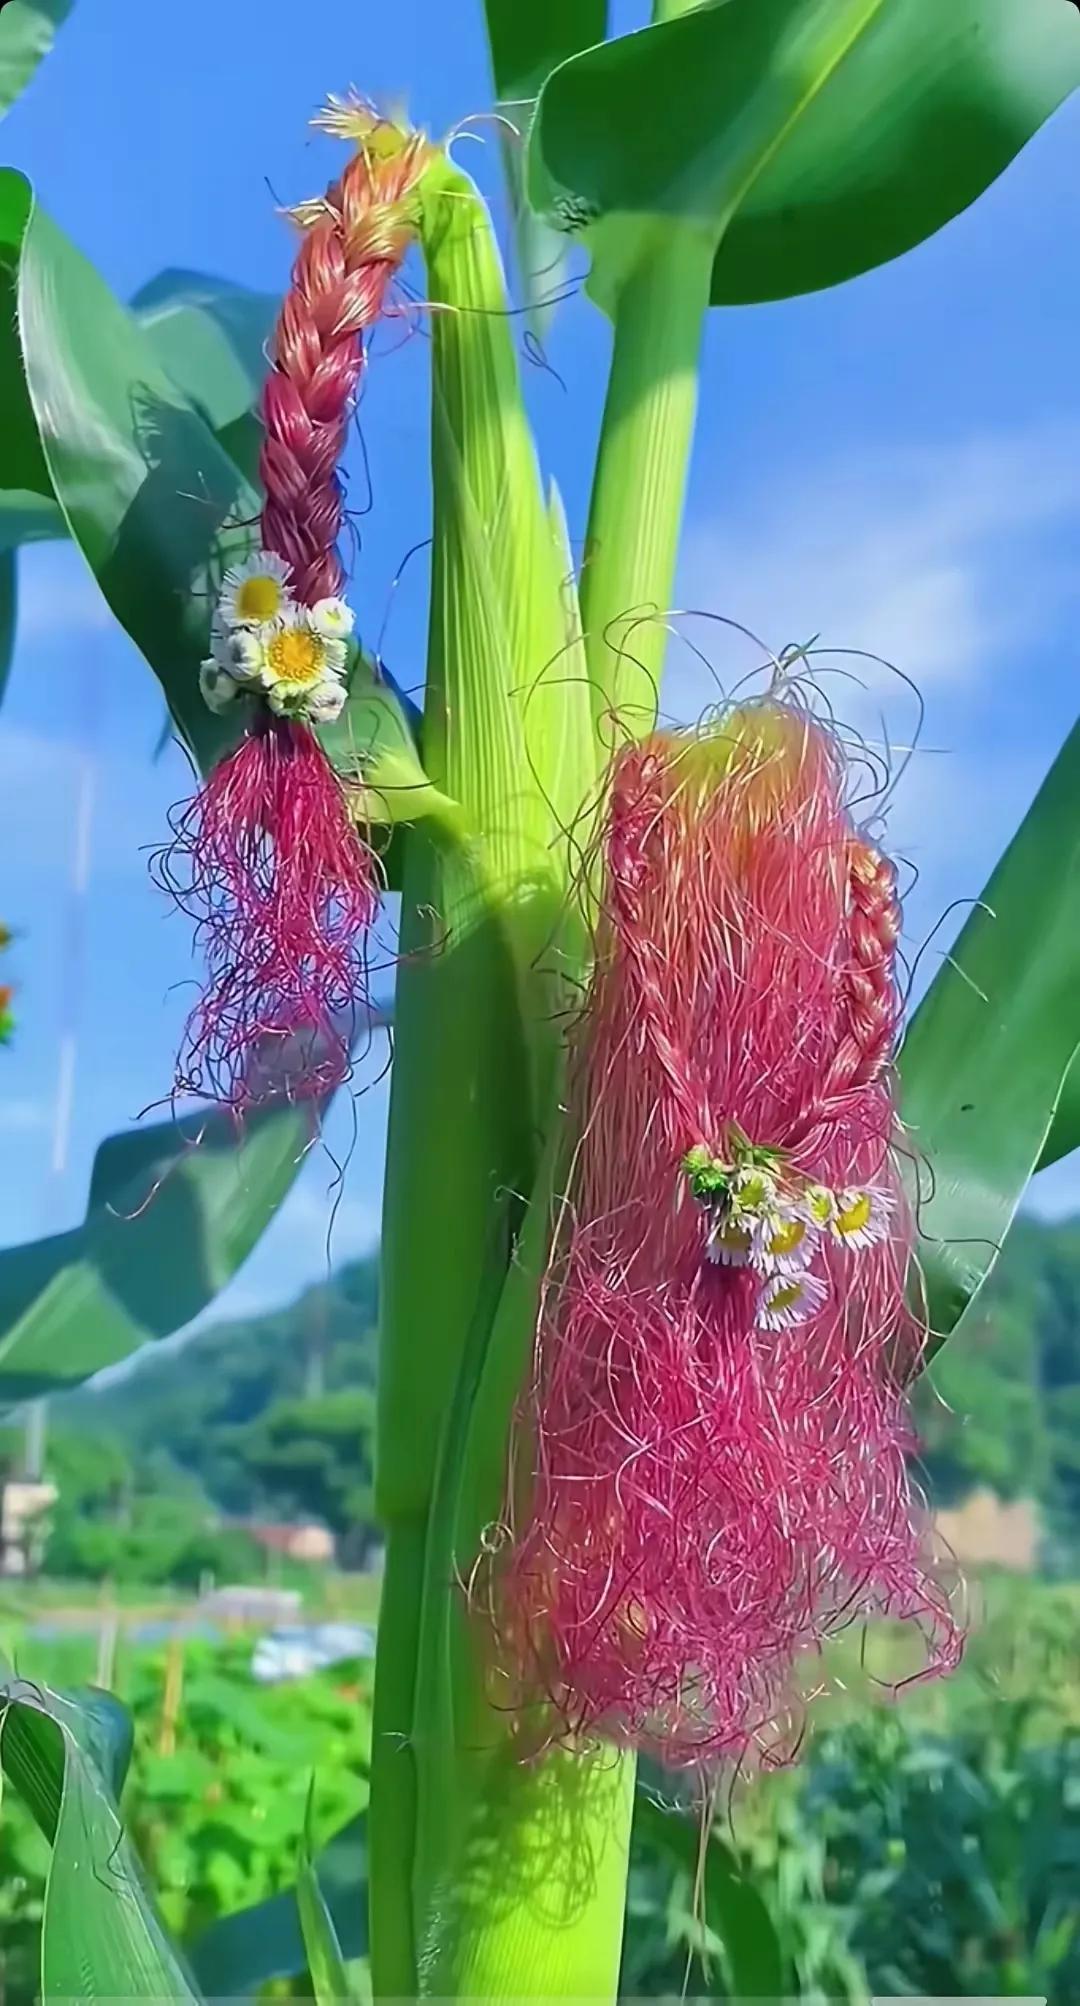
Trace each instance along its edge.
{"label": "smooth light-green stem rising from the wide silk to the top-right leaf", "polygon": [[624,279],[614,317],[582,622],[594,712],[634,734],[656,718],[711,273],[713,239],[664,223]]}

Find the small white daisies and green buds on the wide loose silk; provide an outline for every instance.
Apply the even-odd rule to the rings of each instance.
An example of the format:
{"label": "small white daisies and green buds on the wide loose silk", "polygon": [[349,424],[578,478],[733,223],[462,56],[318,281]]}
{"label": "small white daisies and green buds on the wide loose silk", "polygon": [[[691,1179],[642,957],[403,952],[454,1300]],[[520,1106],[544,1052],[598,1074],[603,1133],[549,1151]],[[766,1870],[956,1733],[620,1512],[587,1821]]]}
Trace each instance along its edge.
{"label": "small white daisies and green buds on the wide loose silk", "polygon": [[825,1240],[861,1252],[889,1232],[885,1190],[833,1192],[793,1172],[783,1149],[751,1143],[735,1123],[723,1155],[699,1143],[683,1157],[683,1172],[709,1218],[709,1260],[761,1276],[759,1330],[791,1330],[817,1316],[827,1286],[813,1260]]}

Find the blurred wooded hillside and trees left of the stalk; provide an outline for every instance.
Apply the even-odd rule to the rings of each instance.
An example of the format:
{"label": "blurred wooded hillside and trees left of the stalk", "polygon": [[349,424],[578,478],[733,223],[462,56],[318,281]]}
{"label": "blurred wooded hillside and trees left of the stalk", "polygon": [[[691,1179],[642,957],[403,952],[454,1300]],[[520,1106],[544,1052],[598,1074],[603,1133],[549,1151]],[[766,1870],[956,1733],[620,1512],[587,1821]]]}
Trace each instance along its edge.
{"label": "blurred wooded hillside and trees left of the stalk", "polygon": [[[373,1545],[375,1262],[295,1306],[155,1348],[100,1390],[50,1404],[42,1567],[62,1581],[197,1589],[259,1581],[267,1559],[231,1521],[317,1521],[339,1561]],[[0,1470],[24,1436],[0,1426]]]}

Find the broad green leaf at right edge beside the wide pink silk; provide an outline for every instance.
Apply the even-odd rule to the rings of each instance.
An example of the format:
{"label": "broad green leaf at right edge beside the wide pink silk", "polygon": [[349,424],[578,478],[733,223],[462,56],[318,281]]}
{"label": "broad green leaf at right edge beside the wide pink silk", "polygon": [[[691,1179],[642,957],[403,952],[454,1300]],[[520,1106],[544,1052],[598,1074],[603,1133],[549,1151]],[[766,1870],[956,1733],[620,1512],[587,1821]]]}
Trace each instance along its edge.
{"label": "broad green leaf at right edge beside the wide pink silk", "polygon": [[[990,1274],[1080,1047],[1080,724],[980,907],[923,997],[899,1055],[901,1115],[921,1186],[919,1264],[941,1342]],[[1062,1111],[1070,1141],[1074,1101]],[[1052,1147],[1052,1143],[1050,1143]]]}

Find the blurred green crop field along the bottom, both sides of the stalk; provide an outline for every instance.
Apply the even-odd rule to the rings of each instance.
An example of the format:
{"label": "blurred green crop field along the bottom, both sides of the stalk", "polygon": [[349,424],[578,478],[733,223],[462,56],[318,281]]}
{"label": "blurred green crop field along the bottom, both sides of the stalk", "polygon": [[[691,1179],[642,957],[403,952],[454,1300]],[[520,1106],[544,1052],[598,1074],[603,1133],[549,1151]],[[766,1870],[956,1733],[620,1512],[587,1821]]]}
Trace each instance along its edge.
{"label": "blurred green crop field along the bottom, both sides of the stalk", "polygon": [[[1080,1589],[996,1577],[978,1601],[950,1683],[885,1699],[879,1681],[903,1671],[893,1641],[873,1637],[863,1651],[851,1637],[837,1647],[839,1691],[817,1703],[801,1763],[719,1789],[717,1856],[727,1848],[757,1890],[789,1990],[807,2006],[861,2002],[871,1988],[1044,1992],[1054,2006],[1080,1996]],[[36,1607],[32,1619],[42,1617]],[[14,1627],[8,1611],[2,1629],[22,1675],[56,1685],[92,1675],[92,1633],[34,1639]],[[295,1878],[311,1775],[319,1840],[365,1803],[369,1667],[263,1689],[249,1661],[249,1637],[147,1647],[124,1641],[120,1625],[116,1689],[137,1725],[124,1815],[167,1922],[189,1942]],[[670,1797],[670,1783],[648,1781]],[[8,1799],[6,2006],[34,1996],[42,1870],[44,1844]],[[703,1916],[693,1876],[642,1823],[624,1996],[677,1998],[701,1950],[689,1992],[729,1996],[719,1920],[709,1894]]]}

